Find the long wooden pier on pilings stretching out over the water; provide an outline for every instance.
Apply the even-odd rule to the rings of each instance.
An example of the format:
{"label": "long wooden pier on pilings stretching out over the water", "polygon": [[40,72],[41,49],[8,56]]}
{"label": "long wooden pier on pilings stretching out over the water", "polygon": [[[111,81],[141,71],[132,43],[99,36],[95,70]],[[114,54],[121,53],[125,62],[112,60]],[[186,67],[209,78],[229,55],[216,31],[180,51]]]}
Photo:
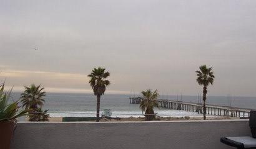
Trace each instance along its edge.
{"label": "long wooden pier on pilings stretching out over the water", "polygon": [[[142,101],[142,99],[142,97],[130,97],[130,104],[139,104],[140,101]],[[202,104],[182,101],[171,101],[165,99],[157,99],[156,101],[159,107],[162,108],[197,112],[202,114]],[[206,114],[208,115],[248,118],[250,117],[250,111],[250,109],[242,109],[238,107],[217,106],[210,104],[206,105]]]}

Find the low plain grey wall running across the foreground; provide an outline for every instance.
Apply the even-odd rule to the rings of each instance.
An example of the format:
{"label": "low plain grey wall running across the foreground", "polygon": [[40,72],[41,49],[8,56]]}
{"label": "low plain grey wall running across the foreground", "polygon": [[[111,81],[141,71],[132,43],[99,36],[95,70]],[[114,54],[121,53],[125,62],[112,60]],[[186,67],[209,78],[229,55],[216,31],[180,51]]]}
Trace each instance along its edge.
{"label": "low plain grey wall running across the foreground", "polygon": [[17,124],[12,149],[230,148],[220,137],[250,135],[248,120]]}

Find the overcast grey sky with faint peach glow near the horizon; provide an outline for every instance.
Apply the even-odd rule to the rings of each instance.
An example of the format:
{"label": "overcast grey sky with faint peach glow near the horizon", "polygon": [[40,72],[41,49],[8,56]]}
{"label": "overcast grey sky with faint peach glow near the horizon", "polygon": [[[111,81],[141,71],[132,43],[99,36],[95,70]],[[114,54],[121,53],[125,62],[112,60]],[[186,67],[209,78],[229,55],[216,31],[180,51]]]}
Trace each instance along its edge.
{"label": "overcast grey sky with faint peach glow near the horizon", "polygon": [[0,80],[16,91],[87,93],[103,66],[107,93],[196,95],[205,64],[210,95],[256,96],[255,47],[255,0],[0,0]]}

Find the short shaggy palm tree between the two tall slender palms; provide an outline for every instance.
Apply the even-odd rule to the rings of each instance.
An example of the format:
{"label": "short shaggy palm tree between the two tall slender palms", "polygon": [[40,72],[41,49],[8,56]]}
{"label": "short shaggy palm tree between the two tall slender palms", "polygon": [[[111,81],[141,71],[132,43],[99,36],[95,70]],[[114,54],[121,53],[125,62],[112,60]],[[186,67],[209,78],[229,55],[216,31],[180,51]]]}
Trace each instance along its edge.
{"label": "short shaggy palm tree between the two tall slender palms", "polygon": [[152,92],[150,89],[141,92],[144,98],[140,102],[140,109],[145,111],[145,120],[153,120],[155,118],[154,107],[159,107],[155,101],[159,96],[157,90]]}

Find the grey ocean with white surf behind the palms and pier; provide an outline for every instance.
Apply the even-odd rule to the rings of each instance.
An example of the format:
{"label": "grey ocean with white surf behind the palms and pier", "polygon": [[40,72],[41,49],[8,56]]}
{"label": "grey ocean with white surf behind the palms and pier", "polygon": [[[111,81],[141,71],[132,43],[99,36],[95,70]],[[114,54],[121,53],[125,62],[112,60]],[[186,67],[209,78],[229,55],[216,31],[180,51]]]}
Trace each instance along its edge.
{"label": "grey ocean with white surf behind the palms and pier", "polygon": [[[19,99],[21,93],[12,93],[12,99]],[[112,117],[143,117],[139,104],[130,104],[130,95],[104,94],[101,97],[101,112],[111,109]],[[160,96],[160,99],[179,100],[184,102],[200,102],[198,96]],[[96,96],[94,94],[73,93],[47,93],[43,109],[49,109],[51,117],[95,117]],[[256,97],[231,97],[232,107],[256,109]],[[207,104],[229,106],[227,96],[208,96]],[[157,109],[155,112],[160,116],[182,117],[185,115],[199,116],[196,112],[176,111],[170,109]]]}

